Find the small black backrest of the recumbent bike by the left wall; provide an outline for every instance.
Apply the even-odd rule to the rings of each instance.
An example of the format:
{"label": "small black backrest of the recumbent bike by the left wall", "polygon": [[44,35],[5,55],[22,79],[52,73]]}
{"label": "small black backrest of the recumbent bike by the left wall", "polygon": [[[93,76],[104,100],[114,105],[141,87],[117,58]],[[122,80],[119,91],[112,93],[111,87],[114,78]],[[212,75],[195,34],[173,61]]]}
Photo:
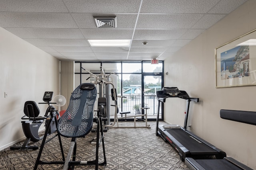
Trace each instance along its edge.
{"label": "small black backrest of the recumbent bike by the left wall", "polygon": [[26,101],[24,104],[24,113],[30,119],[38,117],[40,110],[34,101]]}

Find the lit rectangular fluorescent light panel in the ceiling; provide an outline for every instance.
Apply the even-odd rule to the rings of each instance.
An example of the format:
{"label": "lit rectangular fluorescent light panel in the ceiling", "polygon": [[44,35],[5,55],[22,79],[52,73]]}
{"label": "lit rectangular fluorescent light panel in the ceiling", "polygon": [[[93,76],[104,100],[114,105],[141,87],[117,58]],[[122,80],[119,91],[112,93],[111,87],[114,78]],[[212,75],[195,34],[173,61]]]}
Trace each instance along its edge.
{"label": "lit rectangular fluorescent light panel in the ceiling", "polygon": [[131,39],[88,39],[92,47],[130,47]]}

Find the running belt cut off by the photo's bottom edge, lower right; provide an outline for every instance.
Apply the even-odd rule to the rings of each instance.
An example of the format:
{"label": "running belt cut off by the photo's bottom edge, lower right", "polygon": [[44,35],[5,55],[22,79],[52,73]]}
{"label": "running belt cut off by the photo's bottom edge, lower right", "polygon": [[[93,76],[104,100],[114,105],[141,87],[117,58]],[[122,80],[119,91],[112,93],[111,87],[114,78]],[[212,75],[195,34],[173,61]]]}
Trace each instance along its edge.
{"label": "running belt cut off by the photo's bottom edge, lower right", "polygon": [[206,170],[241,170],[224,159],[196,160]]}

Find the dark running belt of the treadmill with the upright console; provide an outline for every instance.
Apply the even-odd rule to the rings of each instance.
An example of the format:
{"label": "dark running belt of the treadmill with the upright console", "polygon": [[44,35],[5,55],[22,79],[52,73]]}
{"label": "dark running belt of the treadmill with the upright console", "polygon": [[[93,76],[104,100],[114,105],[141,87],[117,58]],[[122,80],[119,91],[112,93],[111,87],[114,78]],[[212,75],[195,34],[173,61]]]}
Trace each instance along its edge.
{"label": "dark running belt of the treadmill with the upright console", "polygon": [[181,145],[186,147],[191,154],[197,154],[198,152],[204,152],[206,154],[218,153],[216,150],[191,136],[189,133],[186,133],[182,129],[169,129],[165,133],[167,136],[168,134],[172,135],[172,137],[174,137]]}

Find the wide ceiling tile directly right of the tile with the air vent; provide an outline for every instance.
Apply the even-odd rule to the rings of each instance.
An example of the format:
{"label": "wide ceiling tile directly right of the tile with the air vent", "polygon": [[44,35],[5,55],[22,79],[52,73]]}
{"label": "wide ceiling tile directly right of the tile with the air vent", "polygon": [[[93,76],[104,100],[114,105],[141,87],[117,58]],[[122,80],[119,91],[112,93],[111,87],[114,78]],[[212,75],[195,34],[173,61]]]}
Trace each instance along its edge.
{"label": "wide ceiling tile directly right of the tile with the air vent", "polygon": [[188,29],[203,16],[203,14],[140,14],[136,28]]}

